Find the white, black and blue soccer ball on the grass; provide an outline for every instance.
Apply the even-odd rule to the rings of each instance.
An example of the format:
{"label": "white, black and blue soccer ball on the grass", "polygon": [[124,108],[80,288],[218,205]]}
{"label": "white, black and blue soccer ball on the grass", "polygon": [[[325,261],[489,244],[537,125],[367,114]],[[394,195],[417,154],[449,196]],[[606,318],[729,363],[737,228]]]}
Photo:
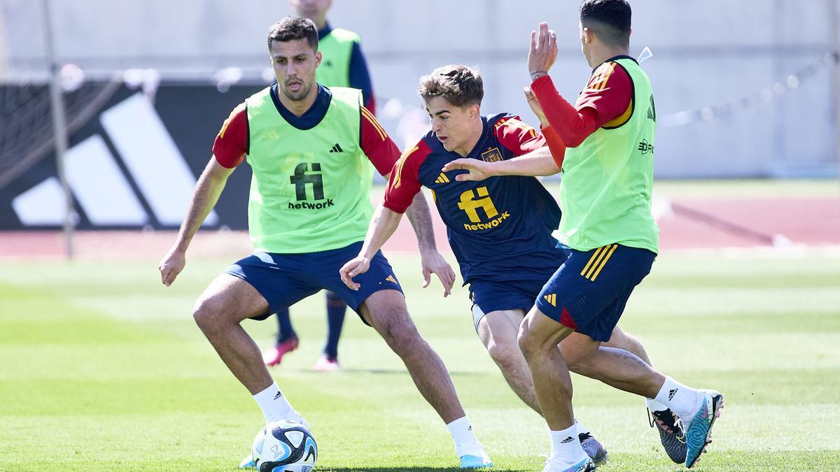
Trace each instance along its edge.
{"label": "white, black and blue soccer ball on the grass", "polygon": [[281,420],[260,429],[251,457],[259,472],[309,472],[318,459],[318,445],[307,427]]}

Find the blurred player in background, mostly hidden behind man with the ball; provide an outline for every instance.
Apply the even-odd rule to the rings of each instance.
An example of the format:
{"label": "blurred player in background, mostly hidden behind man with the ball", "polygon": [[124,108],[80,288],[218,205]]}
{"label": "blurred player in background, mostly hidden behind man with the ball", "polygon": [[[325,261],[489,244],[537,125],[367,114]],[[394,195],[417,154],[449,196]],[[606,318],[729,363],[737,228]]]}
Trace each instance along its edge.
{"label": "blurred player in background, mostly hidden behind man with the ball", "polygon": [[[373,86],[370,82],[365,55],[361,50],[358,34],[341,28],[333,28],[327,22],[327,12],[332,0],[291,0],[297,16],[309,18],[318,28],[318,51],[323,55],[316,71],[318,83],[325,87],[351,87],[362,91],[365,108],[375,115]],[[339,338],[344,326],[347,304],[340,296],[327,291],[327,342],[323,353],[315,363],[315,370],[339,370]],[[266,365],[280,364],[283,355],[299,344],[297,333],[291,325],[288,307],[277,311],[277,336],[274,346],[265,349],[263,360]]]}

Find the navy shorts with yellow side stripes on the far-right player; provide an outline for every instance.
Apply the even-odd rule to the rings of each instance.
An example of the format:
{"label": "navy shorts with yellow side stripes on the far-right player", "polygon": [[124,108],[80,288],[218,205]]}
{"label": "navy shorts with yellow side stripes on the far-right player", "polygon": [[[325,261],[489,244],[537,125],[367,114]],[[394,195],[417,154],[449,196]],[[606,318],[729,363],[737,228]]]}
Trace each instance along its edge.
{"label": "navy shorts with yellow side stripes on the far-right player", "polygon": [[621,244],[585,252],[559,247],[568,257],[540,291],[537,307],[564,326],[606,343],[656,254]]}

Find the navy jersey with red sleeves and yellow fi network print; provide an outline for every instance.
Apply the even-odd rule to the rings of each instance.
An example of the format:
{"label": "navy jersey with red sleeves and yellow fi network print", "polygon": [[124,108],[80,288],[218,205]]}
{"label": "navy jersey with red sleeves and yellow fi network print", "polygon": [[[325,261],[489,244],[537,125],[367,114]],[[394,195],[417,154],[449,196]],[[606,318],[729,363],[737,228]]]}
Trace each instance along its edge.
{"label": "navy jersey with red sleeves and yellow fi network print", "polygon": [[[543,136],[517,116],[501,113],[481,120],[484,131],[468,159],[507,160],[545,144]],[[460,157],[430,132],[394,165],[385,207],[405,212],[420,186],[431,189],[465,284],[548,280],[563,263],[551,235],[560,222],[554,197],[534,177],[456,181],[455,176],[466,170],[444,172],[443,167]]]}

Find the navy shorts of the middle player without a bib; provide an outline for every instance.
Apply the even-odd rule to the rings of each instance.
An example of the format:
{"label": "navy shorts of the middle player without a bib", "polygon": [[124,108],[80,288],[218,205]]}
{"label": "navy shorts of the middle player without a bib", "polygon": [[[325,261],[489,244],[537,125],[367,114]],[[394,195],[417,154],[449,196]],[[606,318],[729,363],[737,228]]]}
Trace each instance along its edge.
{"label": "navy shorts of the middle player without a bib", "polygon": [[475,330],[481,318],[490,312],[522,309],[527,313],[549,276],[539,281],[470,281]]}

